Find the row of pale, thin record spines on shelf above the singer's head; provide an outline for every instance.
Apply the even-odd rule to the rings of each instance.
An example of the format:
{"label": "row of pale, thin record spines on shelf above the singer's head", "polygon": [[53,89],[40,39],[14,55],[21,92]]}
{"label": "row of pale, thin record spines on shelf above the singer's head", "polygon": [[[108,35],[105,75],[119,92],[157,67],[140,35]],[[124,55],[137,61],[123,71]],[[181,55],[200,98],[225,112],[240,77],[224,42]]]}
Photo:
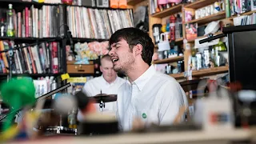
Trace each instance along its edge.
{"label": "row of pale, thin record spines on shelf above the singer's head", "polygon": [[98,10],[67,6],[67,22],[75,38],[110,38],[116,30],[133,27],[132,10]]}

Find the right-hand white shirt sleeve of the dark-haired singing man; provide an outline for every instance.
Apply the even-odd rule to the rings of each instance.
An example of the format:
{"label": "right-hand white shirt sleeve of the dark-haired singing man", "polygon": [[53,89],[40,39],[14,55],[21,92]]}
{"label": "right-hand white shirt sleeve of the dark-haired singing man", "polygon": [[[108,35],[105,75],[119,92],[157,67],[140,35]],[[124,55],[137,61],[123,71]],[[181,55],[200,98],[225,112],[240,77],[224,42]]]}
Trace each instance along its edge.
{"label": "right-hand white shirt sleeve of the dark-haired singing man", "polygon": [[167,82],[162,87],[162,98],[159,110],[160,125],[171,125],[182,106],[183,94],[177,82]]}

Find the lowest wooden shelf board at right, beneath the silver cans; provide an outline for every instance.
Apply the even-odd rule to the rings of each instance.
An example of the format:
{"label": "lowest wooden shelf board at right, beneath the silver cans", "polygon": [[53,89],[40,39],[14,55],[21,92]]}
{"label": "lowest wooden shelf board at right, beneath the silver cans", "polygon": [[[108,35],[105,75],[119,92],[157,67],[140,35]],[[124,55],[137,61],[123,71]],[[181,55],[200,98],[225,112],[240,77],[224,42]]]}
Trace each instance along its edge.
{"label": "lowest wooden shelf board at right, beneath the silver cans", "polygon": [[209,69],[203,69],[203,70],[194,70],[192,71],[193,77],[203,77],[203,76],[209,76],[214,74],[222,74],[229,71],[228,66],[219,66],[219,67],[213,67]]}

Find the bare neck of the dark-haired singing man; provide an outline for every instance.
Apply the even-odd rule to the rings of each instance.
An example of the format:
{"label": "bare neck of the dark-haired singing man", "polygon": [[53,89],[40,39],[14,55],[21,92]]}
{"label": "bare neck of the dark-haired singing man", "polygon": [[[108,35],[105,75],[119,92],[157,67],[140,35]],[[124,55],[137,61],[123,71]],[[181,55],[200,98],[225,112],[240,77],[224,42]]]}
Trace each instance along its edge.
{"label": "bare neck of the dark-haired singing man", "polygon": [[149,69],[149,65],[145,62],[134,63],[134,66],[127,72],[126,76],[129,78],[130,82],[134,82],[139,78],[146,70]]}

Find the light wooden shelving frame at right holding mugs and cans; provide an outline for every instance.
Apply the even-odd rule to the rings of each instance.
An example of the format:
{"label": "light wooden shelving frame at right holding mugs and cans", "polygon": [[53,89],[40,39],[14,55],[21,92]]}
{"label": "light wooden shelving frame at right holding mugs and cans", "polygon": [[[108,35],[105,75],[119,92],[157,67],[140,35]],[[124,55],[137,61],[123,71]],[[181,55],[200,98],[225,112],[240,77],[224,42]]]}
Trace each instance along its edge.
{"label": "light wooden shelving frame at right holding mugs and cans", "polygon": [[[148,0],[149,5],[150,0]],[[155,23],[161,23],[161,24],[165,24],[165,21],[167,18],[170,18],[170,15],[172,14],[178,14],[178,13],[182,13],[182,35],[183,38],[179,38],[175,40],[175,43],[179,43],[183,45],[183,52],[184,52],[184,63],[185,63],[185,70],[187,70],[187,66],[188,66],[188,59],[191,55],[191,50],[190,48],[194,46],[194,39],[191,40],[186,40],[186,31],[185,31],[185,26],[186,24],[190,24],[190,23],[197,23],[198,26],[206,26],[208,23],[213,22],[213,21],[220,21],[222,22],[223,26],[233,26],[233,18],[236,18],[238,16],[242,16],[242,15],[249,15],[249,14],[253,14],[256,12],[256,10],[252,10],[252,11],[247,11],[245,13],[242,14],[235,14],[235,15],[231,15],[230,18],[226,17],[226,10],[221,10],[219,11],[217,14],[211,14],[209,16],[203,17],[203,18],[192,18],[192,20],[190,20],[189,22],[185,22],[184,16],[185,16],[185,10],[187,9],[194,9],[194,10],[198,10],[201,9],[205,6],[210,6],[211,4],[214,4],[214,2],[218,2],[218,0],[197,0],[195,2],[190,2],[190,3],[180,3],[177,6],[171,6],[170,8],[166,9],[166,10],[162,10],[160,12],[156,12],[154,14],[150,14],[149,13],[149,17],[150,17],[150,28],[152,28],[152,26]],[[225,4],[225,3],[224,3]],[[150,37],[154,39],[153,34],[152,34],[152,30],[150,30]],[[214,33],[214,35],[218,35],[218,34],[222,34],[222,32],[218,31],[216,33]],[[197,38],[207,38],[207,36],[199,36]],[[186,41],[183,41],[186,40]],[[187,43],[183,43],[183,42],[187,42]],[[189,47],[186,47],[189,46]],[[158,46],[155,46],[155,51],[158,50]],[[172,58],[170,58],[172,59]],[[160,61],[156,61],[154,63],[168,63],[169,58],[166,58],[164,60],[160,60]],[[171,60],[170,62],[173,62],[173,60]],[[215,74],[222,74],[222,73],[226,73],[228,72],[228,66],[220,66],[220,67],[214,67],[214,68],[209,68],[209,69],[202,69],[202,70],[194,70],[193,71],[193,78],[200,78],[200,77],[208,77],[208,76],[213,76]],[[180,78],[184,78],[183,74],[170,74],[171,76],[173,76],[176,79],[180,79]]]}

